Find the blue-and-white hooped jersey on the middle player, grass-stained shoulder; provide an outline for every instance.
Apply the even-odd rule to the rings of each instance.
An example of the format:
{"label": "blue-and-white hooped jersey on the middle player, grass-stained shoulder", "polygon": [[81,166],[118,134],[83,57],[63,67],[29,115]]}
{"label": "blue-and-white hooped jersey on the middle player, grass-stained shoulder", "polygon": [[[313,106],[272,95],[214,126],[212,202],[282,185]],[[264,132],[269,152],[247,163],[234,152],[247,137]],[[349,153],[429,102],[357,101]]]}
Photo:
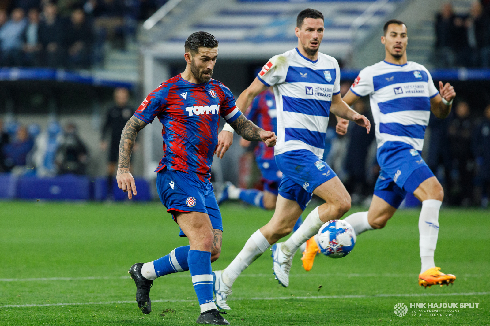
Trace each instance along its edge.
{"label": "blue-and-white hooped jersey on the middle player, grass-stained shoulder", "polygon": [[274,86],[277,108],[277,143],[274,155],[307,149],[320,159],[332,95],[340,93],[337,60],[319,53],[312,61],[297,48],[273,56],[258,76],[266,86]]}

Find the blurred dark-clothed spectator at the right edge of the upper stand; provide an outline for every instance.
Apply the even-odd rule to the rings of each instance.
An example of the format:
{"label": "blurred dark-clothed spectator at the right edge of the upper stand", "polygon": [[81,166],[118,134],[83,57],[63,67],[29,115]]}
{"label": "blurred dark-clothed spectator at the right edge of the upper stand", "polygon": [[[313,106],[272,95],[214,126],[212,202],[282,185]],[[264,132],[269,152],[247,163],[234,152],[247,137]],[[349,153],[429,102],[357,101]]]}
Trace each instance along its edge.
{"label": "blurred dark-clothed spectator at the right edge of the upper stand", "polygon": [[473,2],[466,19],[468,31],[468,46],[471,49],[469,63],[471,66],[489,67],[490,60],[490,24],[489,19],[483,15],[483,6],[479,2]]}

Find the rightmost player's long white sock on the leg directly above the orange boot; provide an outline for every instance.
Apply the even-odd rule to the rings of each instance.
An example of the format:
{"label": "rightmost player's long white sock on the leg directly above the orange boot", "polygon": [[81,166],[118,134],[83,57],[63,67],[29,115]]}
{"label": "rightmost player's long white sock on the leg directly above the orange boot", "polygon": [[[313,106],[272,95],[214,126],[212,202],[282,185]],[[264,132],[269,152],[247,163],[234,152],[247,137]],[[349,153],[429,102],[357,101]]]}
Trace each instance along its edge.
{"label": "rightmost player's long white sock on the leg directly above the orange boot", "polygon": [[429,268],[436,267],[434,251],[439,235],[439,210],[442,202],[437,199],[427,199],[422,202],[422,210],[418,218],[418,232],[420,233],[420,273]]}

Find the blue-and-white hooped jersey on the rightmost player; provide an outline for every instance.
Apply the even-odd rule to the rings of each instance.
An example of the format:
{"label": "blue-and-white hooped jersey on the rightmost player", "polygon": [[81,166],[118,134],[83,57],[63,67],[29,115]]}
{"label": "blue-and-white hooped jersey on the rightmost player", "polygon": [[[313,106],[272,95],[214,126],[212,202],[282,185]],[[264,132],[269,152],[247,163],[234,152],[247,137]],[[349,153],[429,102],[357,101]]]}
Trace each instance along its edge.
{"label": "blue-and-white hooped jersey on the rightmost player", "polygon": [[369,95],[378,148],[402,141],[422,150],[430,99],[439,93],[424,66],[381,61],[361,70],[350,90],[358,96]]}

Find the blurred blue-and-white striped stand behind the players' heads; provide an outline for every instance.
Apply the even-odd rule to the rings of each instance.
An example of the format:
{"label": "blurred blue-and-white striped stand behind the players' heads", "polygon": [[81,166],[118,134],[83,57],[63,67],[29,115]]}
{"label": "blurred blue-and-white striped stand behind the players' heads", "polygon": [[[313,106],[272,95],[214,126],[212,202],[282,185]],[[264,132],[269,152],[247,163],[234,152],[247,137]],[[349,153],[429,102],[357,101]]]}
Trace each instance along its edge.
{"label": "blurred blue-and-white striped stand behind the players' heads", "polygon": [[[196,31],[206,31],[220,41],[221,59],[267,60],[297,46],[296,16],[310,7],[318,9],[325,17],[320,50],[336,58],[346,58],[352,50],[353,38],[368,35],[371,28],[384,22],[402,1],[180,1],[169,17],[152,28],[153,35],[158,36],[145,52],[155,58],[180,59],[185,39]],[[366,20],[359,24],[363,15]]]}

